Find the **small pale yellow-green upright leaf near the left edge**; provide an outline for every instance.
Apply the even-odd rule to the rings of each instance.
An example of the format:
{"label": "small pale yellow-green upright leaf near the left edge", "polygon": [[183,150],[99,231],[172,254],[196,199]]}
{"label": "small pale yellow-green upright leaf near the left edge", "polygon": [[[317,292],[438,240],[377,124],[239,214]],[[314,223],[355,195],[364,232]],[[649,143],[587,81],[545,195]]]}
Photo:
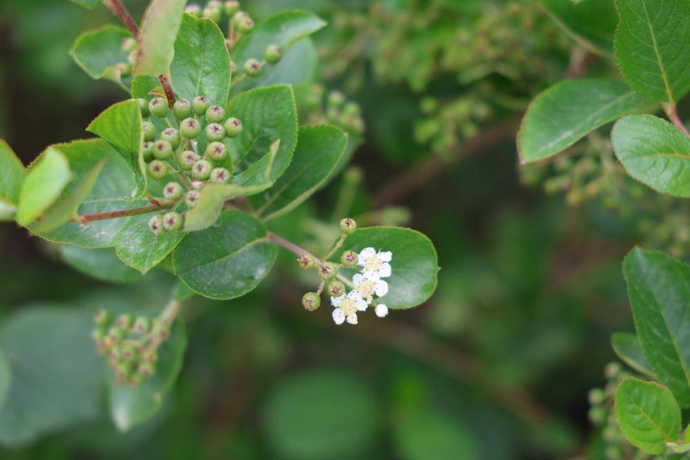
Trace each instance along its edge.
{"label": "small pale yellow-green upright leaf near the left edge", "polygon": [[26,227],[46,211],[72,180],[67,157],[57,148],[48,150],[34,162],[21,186],[17,223]]}

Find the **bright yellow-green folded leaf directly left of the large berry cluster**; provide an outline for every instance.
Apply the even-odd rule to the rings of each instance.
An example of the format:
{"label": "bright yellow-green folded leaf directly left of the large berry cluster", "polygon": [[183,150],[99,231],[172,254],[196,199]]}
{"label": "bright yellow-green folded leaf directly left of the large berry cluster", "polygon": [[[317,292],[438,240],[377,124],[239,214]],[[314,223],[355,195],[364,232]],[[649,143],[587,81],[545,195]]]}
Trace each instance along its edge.
{"label": "bright yellow-green folded leaf directly left of the large berry cluster", "polygon": [[131,99],[106,108],[87,127],[86,131],[108,141],[134,171],[137,189],[133,198],[146,193],[146,162],[142,154],[144,129],[139,102]]}

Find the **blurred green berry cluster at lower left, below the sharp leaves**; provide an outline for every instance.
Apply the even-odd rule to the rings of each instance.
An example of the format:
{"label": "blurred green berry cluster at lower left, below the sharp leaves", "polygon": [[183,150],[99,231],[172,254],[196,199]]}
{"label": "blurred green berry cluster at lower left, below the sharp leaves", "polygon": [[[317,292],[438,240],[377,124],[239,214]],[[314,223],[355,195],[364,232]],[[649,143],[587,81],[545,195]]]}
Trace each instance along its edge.
{"label": "blurred green berry cluster at lower left, below the sharp leaves", "polygon": [[168,325],[147,316],[99,310],[91,337],[97,352],[108,359],[117,385],[136,387],[155,373],[157,349],[170,336]]}

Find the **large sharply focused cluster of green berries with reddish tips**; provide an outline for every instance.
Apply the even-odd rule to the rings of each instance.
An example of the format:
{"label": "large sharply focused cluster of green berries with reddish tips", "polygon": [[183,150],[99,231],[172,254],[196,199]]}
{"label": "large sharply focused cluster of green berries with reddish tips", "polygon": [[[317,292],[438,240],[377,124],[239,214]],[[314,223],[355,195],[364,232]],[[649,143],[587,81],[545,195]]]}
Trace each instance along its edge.
{"label": "large sharply focused cluster of green berries with reddish tips", "polygon": [[[191,102],[179,99],[172,109],[164,97],[151,101],[140,99],[139,102],[144,117],[142,152],[148,163],[148,174],[155,180],[169,175],[175,177],[163,188],[163,198],[169,207],[177,209],[178,204],[184,203],[184,207],[190,209],[205,184],[229,182],[232,158],[224,140],[242,133],[242,122],[238,118],[227,117],[224,108],[212,106],[203,95]],[[158,131],[151,117],[164,119],[173,126]],[[201,155],[198,153],[200,140],[205,140],[206,144]],[[163,231],[179,231],[182,227],[184,212],[174,210],[154,215],[148,222],[148,228],[156,235]]]}

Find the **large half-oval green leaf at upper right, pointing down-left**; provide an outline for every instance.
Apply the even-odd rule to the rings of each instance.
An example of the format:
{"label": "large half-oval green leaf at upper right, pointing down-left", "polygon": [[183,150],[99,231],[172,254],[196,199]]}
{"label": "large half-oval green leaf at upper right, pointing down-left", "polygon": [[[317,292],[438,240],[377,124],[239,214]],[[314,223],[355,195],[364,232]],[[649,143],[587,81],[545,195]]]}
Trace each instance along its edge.
{"label": "large half-oval green leaf at upper right, pointing down-left", "polygon": [[555,155],[596,128],[646,104],[649,102],[620,82],[560,82],[530,104],[517,134],[520,160],[530,163]]}

